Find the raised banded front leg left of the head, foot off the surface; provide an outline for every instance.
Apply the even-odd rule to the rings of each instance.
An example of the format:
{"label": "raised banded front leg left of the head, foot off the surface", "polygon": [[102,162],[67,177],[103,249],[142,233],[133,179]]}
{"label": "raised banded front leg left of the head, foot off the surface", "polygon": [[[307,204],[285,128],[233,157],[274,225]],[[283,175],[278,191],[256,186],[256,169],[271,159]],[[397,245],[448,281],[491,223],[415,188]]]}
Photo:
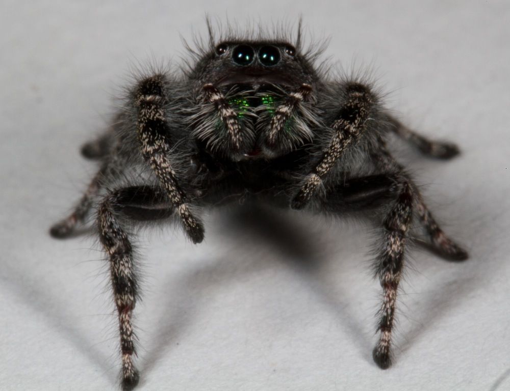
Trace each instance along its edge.
{"label": "raised banded front leg left of the head, foot off the surface", "polygon": [[164,77],[161,75],[147,78],[140,83],[137,91],[138,138],[145,160],[165,188],[186,233],[193,243],[199,243],[203,240],[202,222],[191,213],[186,194],[177,183],[168,158],[171,147],[164,113],[164,91]]}

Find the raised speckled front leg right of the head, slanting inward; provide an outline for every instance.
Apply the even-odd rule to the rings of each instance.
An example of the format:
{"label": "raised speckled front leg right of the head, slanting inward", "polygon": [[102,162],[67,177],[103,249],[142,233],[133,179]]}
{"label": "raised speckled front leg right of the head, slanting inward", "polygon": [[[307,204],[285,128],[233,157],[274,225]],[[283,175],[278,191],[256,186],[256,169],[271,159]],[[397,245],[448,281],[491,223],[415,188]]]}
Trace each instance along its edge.
{"label": "raised speckled front leg right of the head, slanting inward", "polygon": [[372,105],[372,95],[363,85],[353,84],[347,88],[348,98],[340,109],[338,119],[331,125],[334,135],[322,158],[304,181],[291,202],[293,209],[302,209],[322,187],[322,178],[333,169],[346,148],[356,142],[365,129]]}

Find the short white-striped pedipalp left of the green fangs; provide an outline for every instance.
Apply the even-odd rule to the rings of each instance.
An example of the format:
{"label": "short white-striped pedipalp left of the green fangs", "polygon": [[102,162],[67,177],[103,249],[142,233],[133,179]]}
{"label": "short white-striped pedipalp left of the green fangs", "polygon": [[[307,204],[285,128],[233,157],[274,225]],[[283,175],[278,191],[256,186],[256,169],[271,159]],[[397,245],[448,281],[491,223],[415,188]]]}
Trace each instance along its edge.
{"label": "short white-striped pedipalp left of the green fangs", "polygon": [[203,86],[203,93],[209,103],[214,103],[218,109],[221,121],[228,132],[229,149],[238,152],[243,146],[243,135],[237,120],[237,113],[225,99],[225,96],[211,83]]}

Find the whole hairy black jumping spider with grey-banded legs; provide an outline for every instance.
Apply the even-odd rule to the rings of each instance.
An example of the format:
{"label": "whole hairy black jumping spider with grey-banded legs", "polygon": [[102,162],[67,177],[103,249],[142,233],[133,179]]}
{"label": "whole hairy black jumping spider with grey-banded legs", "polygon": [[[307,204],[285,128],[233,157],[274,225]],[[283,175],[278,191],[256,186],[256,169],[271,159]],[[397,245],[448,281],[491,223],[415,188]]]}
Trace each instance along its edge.
{"label": "whole hairy black jumping spider with grey-banded legs", "polygon": [[[201,208],[249,199],[295,210],[378,219],[375,274],[382,287],[373,359],[391,365],[391,337],[404,247],[415,218],[444,257],[468,254],[441,230],[418,187],[392,156],[391,134],[423,154],[449,159],[451,143],[429,141],[385,109],[363,77],[334,75],[320,49],[281,34],[230,32],[186,45],[179,71],[136,75],[108,131],[82,148],[100,168],[72,213],[50,229],[69,237],[91,209],[110,265],[118,311],[122,387],[139,380],[132,314],[138,298],[131,227],[179,221],[193,243]],[[292,42],[292,43],[291,43]]]}

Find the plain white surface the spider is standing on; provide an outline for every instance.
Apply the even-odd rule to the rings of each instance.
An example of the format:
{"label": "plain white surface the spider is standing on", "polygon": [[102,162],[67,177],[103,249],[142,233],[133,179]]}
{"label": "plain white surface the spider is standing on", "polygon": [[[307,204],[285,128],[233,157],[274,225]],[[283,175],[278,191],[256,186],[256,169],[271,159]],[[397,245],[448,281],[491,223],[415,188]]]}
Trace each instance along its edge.
{"label": "plain white surface the spider is standing on", "polygon": [[[395,365],[372,362],[378,284],[360,225],[292,215],[299,251],[206,218],[207,239],[140,236],[139,390],[510,389],[510,38],[500,2],[2,2],[0,389],[108,390],[118,373],[108,271],[93,237],[49,238],[95,166],[79,146],[104,127],[128,64],[183,52],[206,12],[294,21],[330,36],[343,64],[372,64],[389,105],[458,142],[451,162],[407,161],[454,264],[410,252]],[[222,228],[223,227],[223,228]],[[284,225],[283,229],[286,226]],[[304,244],[303,244],[304,243]]]}

